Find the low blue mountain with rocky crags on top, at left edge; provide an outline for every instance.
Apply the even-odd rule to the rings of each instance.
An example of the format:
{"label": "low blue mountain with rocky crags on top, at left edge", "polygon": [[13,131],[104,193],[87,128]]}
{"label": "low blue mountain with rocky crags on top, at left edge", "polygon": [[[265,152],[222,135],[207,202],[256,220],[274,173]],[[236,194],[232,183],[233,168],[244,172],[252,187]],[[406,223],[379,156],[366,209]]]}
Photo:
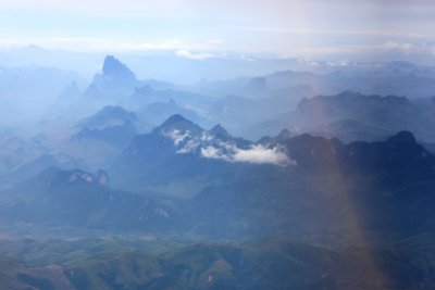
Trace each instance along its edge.
{"label": "low blue mountain with rocky crags on top, at left edge", "polygon": [[109,176],[102,171],[90,174],[50,167],[4,191],[1,215],[3,220],[12,223],[115,232],[156,232],[178,225],[181,218],[167,205],[159,205],[144,196],[112,190],[109,182]]}

